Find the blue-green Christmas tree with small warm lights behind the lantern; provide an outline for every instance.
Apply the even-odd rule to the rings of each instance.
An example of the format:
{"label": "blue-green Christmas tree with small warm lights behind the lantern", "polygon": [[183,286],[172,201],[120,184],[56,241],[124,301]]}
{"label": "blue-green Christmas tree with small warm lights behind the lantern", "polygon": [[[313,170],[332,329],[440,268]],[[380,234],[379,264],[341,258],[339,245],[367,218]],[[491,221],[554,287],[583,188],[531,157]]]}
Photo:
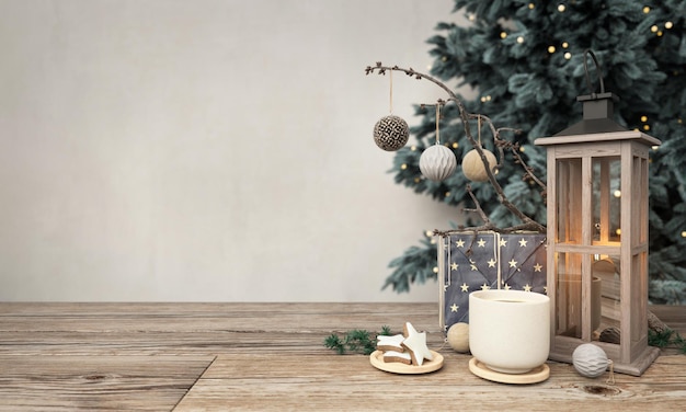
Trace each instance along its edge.
{"label": "blue-green Christmas tree with small warm lights behind the lantern", "polygon": [[[438,23],[439,34],[428,39],[435,58],[431,75],[455,89],[471,88],[476,98],[459,95],[469,112],[516,128],[507,138],[539,178],[546,175],[546,154],[534,140],[579,122],[576,96],[588,94],[584,52],[597,56],[605,89],[620,98],[615,121],[662,140],[650,167],[650,301],[686,304],[686,2],[456,0],[454,12],[465,13],[470,24]],[[420,156],[434,144],[436,119],[420,106],[416,114],[423,116],[412,128],[416,142],[393,159],[396,183],[469,207],[465,187],[470,182],[459,168],[442,182],[422,176]],[[442,115],[441,141],[459,163],[472,147],[455,105],[446,105]],[[488,139],[483,146],[494,149]],[[523,213],[545,224],[540,187],[518,164],[504,162],[498,182]],[[472,193],[492,221],[518,224],[494,201],[488,182],[472,185]],[[478,216],[465,219],[475,224]],[[393,272],[384,288],[408,291],[414,282],[435,278],[435,266],[436,245],[427,233],[390,262]]]}

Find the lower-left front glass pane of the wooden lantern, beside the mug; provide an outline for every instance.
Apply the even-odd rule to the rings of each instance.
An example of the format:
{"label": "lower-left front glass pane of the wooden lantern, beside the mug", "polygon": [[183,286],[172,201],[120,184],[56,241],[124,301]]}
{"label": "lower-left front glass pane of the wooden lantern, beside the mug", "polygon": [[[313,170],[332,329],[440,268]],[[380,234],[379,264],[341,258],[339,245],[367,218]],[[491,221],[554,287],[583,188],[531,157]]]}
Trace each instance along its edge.
{"label": "lower-left front glass pane of the wooden lantern, beside the mug", "polygon": [[581,265],[579,253],[558,253],[556,334],[581,337]]}

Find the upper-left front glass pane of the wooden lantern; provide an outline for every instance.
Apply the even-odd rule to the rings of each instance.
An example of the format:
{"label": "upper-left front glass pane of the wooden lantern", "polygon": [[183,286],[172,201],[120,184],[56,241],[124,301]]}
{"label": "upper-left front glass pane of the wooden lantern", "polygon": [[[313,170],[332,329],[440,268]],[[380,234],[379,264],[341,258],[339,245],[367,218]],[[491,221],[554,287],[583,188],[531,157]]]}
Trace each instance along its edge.
{"label": "upper-left front glass pane of the wooden lantern", "polygon": [[582,168],[581,159],[557,161],[557,231],[558,243],[579,244],[582,216]]}

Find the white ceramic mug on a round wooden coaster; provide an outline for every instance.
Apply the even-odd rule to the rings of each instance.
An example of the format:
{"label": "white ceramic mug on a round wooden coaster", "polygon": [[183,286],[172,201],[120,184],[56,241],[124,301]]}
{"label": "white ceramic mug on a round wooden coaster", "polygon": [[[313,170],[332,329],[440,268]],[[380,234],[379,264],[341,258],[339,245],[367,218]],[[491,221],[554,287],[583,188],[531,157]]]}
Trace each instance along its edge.
{"label": "white ceramic mug on a round wooden coaster", "polygon": [[550,353],[550,298],[506,289],[469,295],[469,348],[489,369],[525,374]]}

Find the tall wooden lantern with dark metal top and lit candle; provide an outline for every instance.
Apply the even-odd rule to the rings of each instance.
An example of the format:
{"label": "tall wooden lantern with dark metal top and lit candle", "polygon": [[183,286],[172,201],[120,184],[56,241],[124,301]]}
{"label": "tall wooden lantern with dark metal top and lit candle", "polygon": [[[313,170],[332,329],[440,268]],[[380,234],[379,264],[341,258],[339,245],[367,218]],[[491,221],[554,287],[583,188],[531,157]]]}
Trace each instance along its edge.
{"label": "tall wooden lantern with dark metal top and lit candle", "polygon": [[593,342],[615,371],[640,376],[659,355],[648,345],[648,154],[660,140],[616,124],[611,93],[578,100],[580,123],[536,140],[548,156],[549,357],[572,363]]}

